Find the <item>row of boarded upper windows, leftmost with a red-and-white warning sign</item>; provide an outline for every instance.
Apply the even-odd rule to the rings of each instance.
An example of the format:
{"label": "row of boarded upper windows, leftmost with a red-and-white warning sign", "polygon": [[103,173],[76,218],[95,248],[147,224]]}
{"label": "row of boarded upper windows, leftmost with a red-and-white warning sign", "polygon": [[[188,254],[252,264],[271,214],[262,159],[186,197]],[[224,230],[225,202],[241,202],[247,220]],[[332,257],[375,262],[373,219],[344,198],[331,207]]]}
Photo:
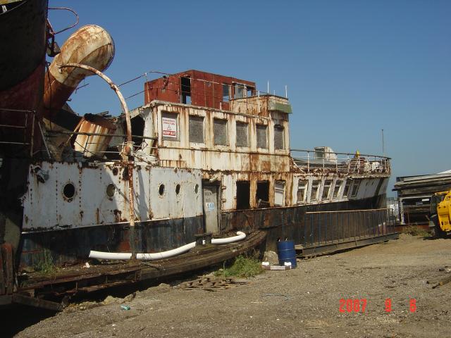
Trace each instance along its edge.
{"label": "row of boarded upper windows, leftmost with a red-and-white warning sign", "polygon": [[[189,139],[192,143],[205,143],[204,116],[189,116]],[[214,145],[228,146],[230,144],[228,137],[228,120],[214,118],[213,120]],[[180,130],[178,123],[178,114],[163,113],[163,139],[178,141],[180,139]],[[236,146],[248,147],[249,123],[237,121],[236,128]],[[268,149],[268,125],[256,125],[257,148]],[[285,149],[285,134],[282,125],[274,126],[274,149]]]}

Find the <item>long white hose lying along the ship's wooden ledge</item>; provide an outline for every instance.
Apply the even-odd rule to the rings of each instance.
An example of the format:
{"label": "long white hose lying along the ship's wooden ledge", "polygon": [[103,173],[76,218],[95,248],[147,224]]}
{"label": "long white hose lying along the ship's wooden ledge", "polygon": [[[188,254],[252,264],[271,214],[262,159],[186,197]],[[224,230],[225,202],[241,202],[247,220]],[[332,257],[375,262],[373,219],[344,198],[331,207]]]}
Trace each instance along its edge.
{"label": "long white hose lying along the ship's wooden ledge", "polygon": [[[228,244],[233,242],[241,241],[245,239],[246,234],[244,232],[238,231],[237,236],[228,237],[228,238],[217,238],[211,239],[211,244]],[[204,241],[205,242],[205,241]],[[184,246],[180,246],[177,249],[172,249],[168,251],[161,251],[156,253],[137,253],[136,258],[140,261],[155,261],[156,259],[169,258],[173,256],[180,255],[180,253],[185,253],[190,251],[190,249],[196,246],[196,242],[192,242],[190,244],[186,244]],[[103,252],[103,251],[93,251],[89,252],[89,258],[96,259],[109,259],[109,260],[121,260],[127,261],[132,258],[131,253],[121,253],[121,252]]]}

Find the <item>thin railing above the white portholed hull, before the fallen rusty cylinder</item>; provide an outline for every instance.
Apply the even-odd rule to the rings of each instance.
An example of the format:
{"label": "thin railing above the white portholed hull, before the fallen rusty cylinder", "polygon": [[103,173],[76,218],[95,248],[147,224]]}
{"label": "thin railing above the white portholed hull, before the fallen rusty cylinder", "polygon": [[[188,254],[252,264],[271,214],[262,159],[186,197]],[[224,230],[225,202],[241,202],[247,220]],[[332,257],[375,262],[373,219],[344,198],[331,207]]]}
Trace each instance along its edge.
{"label": "thin railing above the white portholed hull, before the fallen rusty cylinder", "polygon": [[[107,133],[101,133],[101,132],[68,132],[63,130],[50,130],[47,132],[49,135],[55,135],[55,134],[66,134],[68,135],[68,139],[74,139],[74,143],[78,144],[79,151],[75,151],[76,153],[79,153],[82,157],[94,157],[94,158],[100,158],[102,156],[111,156],[116,158],[120,158],[123,154],[123,148],[125,145],[128,144],[128,142],[121,142],[116,144],[105,144],[105,139],[99,139],[98,142],[94,141],[93,137],[106,137],[108,139],[113,137],[122,137],[125,139],[127,137],[126,134],[107,134]],[[85,139],[85,142],[78,142],[76,140],[76,137],[78,135],[84,135],[87,136]],[[154,146],[157,137],[146,137],[142,135],[132,135],[132,139],[134,142],[132,142],[132,156],[134,156],[138,160],[142,160],[144,162],[150,162],[149,158],[147,156],[152,156],[152,152],[154,152],[154,149],[157,149],[157,146]],[[139,144],[137,144],[137,141],[139,141]],[[69,142],[68,142],[69,143]],[[106,150],[100,150],[102,148],[105,148]],[[117,150],[112,150],[116,148]],[[51,154],[51,157],[58,157],[63,158],[63,153],[67,151],[67,147],[63,147],[62,149],[51,149],[49,147],[49,153]],[[89,155],[89,156],[86,156]]]}

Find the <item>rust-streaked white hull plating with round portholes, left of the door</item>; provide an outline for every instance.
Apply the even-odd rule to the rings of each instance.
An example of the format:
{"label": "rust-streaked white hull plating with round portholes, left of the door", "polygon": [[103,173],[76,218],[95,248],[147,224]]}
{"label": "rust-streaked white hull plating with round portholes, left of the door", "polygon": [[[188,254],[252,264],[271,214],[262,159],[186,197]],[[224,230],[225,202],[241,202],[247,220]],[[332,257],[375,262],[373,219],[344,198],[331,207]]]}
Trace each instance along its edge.
{"label": "rust-streaked white hull plating with round portholes, left of the door", "polygon": [[[127,170],[121,163],[31,165],[23,196],[23,230],[56,230],[128,222]],[[136,163],[135,218],[202,215],[200,170]],[[159,187],[164,189],[160,194]]]}

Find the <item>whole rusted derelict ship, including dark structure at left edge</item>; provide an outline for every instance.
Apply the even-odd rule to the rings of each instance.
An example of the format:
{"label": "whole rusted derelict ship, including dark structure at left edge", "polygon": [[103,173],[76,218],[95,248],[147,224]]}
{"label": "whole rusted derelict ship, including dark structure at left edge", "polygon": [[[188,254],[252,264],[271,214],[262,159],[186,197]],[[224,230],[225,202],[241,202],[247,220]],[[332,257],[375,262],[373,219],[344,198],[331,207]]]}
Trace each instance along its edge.
{"label": "whole rusted derelict ship, including dark structure at left edge", "polygon": [[[309,253],[395,235],[385,209],[390,158],[291,149],[288,98],[260,92],[252,81],[187,70],[145,82],[144,104],[129,112],[101,73],[114,55],[108,32],[81,27],[60,49],[47,1],[4,6],[2,25],[29,15],[31,28],[22,29],[35,32],[27,42],[18,27],[9,43],[20,43],[20,55],[37,44],[27,58],[1,55],[9,72],[1,73],[0,92],[4,303],[12,294],[36,301],[200,268],[265,237],[269,248],[290,238]],[[10,38],[0,32],[2,41]],[[54,56],[47,71],[46,49]],[[121,115],[71,111],[66,101],[88,75],[116,91]],[[67,267],[89,257],[157,259],[149,254],[192,249],[187,244],[199,234],[235,232],[247,237],[204,258],[190,251],[173,261],[161,256],[160,265],[67,268],[50,279],[33,272],[42,261]]]}

